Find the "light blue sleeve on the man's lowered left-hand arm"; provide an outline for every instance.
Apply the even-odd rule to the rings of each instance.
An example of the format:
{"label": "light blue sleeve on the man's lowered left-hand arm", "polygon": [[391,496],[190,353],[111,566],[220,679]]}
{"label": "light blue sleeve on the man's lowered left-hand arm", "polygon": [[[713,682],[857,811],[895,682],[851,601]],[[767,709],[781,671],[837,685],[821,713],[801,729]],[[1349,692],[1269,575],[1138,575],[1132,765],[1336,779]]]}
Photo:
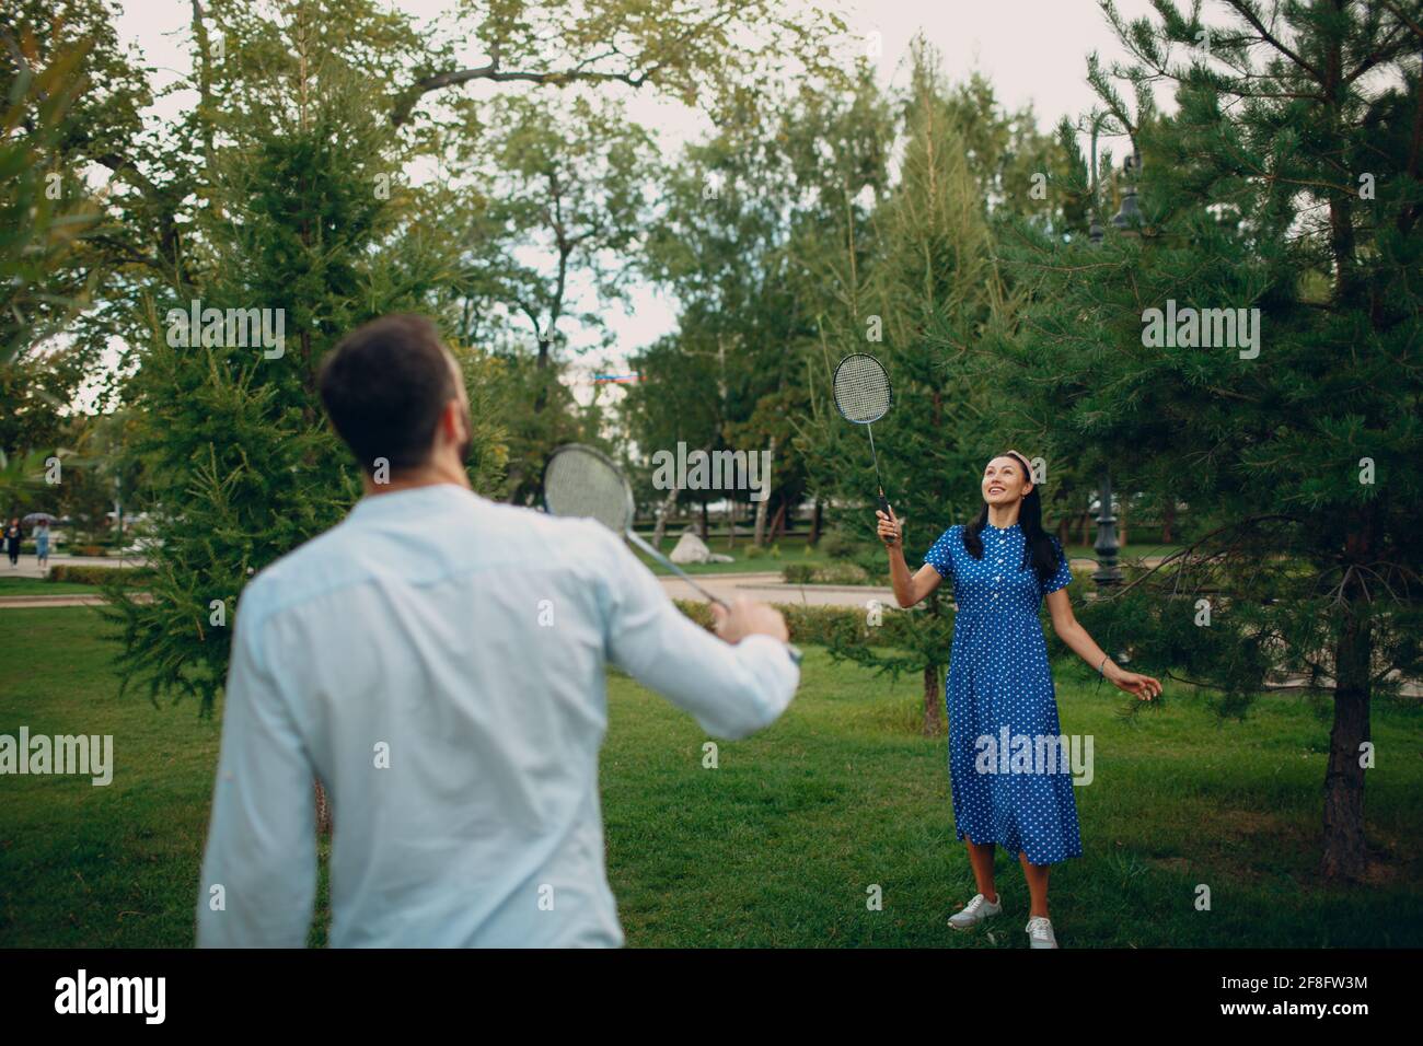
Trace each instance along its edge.
{"label": "light blue sleeve on the man's lowered left-hand arm", "polygon": [[316,899],[314,771],[245,625],[239,611],[198,895],[198,946],[302,948]]}

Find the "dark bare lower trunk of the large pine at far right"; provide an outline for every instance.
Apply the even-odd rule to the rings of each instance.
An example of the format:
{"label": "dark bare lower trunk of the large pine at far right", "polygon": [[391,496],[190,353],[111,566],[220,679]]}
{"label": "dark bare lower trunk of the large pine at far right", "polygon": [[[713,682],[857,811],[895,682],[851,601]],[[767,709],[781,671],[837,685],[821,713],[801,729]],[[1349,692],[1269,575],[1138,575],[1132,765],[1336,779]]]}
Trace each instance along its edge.
{"label": "dark bare lower trunk of the large pine at far right", "polygon": [[1363,837],[1363,759],[1369,740],[1369,623],[1349,613],[1335,653],[1335,723],[1325,771],[1325,845],[1319,870],[1326,881],[1360,881],[1369,850]]}

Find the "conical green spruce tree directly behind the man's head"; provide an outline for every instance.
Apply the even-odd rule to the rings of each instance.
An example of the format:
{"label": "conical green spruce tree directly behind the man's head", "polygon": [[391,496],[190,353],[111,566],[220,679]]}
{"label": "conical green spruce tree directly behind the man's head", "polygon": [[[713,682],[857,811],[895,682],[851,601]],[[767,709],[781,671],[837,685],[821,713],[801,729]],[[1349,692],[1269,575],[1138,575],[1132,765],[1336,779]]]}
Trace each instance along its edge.
{"label": "conical green spruce tree directly behind the man's head", "polygon": [[[293,34],[295,97],[266,121],[222,127],[233,144],[211,158],[208,206],[186,241],[191,279],[147,300],[149,342],[127,389],[158,544],[151,585],[112,593],[124,683],[155,699],[195,696],[205,712],[243,585],[360,494],[356,463],[322,414],[322,357],[376,316],[423,310],[457,263],[421,195],[390,178],[400,145],[364,75],[319,57],[299,24]],[[225,324],[194,330],[194,302],[270,310],[273,327],[280,310],[285,343],[239,344]],[[490,401],[499,366],[453,349],[475,420],[471,477],[488,490],[504,465]]]}

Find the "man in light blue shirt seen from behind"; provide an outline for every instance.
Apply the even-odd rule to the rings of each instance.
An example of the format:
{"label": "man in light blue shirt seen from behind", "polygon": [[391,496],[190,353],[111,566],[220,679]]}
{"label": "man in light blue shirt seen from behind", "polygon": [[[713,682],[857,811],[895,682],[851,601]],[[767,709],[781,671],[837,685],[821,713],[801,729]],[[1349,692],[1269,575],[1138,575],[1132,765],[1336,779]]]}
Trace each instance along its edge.
{"label": "man in light blue shirt seen from behind", "polygon": [[734,740],[795,692],[785,622],[741,599],[713,636],[601,524],[477,495],[464,380],[428,319],[347,334],[319,384],[366,497],[242,592],[198,945],[306,944],[313,777],[333,946],[620,945],[605,665]]}

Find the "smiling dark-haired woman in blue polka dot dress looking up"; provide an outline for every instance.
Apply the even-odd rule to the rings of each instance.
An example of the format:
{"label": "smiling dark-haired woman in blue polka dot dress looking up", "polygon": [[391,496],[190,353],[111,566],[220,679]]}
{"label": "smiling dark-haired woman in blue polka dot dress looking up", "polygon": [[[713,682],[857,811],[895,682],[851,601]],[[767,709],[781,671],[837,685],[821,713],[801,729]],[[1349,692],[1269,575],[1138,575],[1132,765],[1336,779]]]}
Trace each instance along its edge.
{"label": "smiling dark-haired woman in blue polka dot dress looking up", "polygon": [[978,895],[949,919],[969,929],[1002,911],[993,888],[995,847],[1017,854],[1032,894],[1027,935],[1032,948],[1056,948],[1047,916],[1050,865],[1081,857],[1077,804],[1070,776],[1054,767],[993,774],[985,768],[980,740],[1000,733],[1053,743],[1062,734],[1047,645],[1037,618],[1047,599],[1057,635],[1120,689],[1150,700],[1161,685],[1127,673],[1091,640],[1072,613],[1066,588],[1072,568],[1057,538],[1043,531],[1042,498],[1027,458],[1009,450],[992,458],[980,480],[983,508],[966,527],[949,527],[914,576],[904,559],[894,511],[878,512],[879,538],[889,551],[889,574],[901,606],[953,581],[958,613],[949,656],[949,778],[955,834],[965,840]]}

